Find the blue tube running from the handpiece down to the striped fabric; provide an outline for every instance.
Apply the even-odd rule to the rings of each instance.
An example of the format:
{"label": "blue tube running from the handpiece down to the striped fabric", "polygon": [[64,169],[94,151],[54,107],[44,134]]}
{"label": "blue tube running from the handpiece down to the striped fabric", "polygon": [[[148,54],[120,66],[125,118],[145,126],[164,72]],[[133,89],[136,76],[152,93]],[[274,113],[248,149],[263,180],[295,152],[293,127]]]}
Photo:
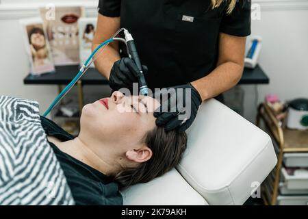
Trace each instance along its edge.
{"label": "blue tube running from the handpiece down to the striped fabric", "polygon": [[66,94],[66,92],[68,92],[68,90],[70,90],[70,88],[72,88],[75,85],[75,83],[79,80],[79,78],[82,76],[82,74],[86,70],[86,66],[88,65],[88,63],[90,62],[92,57],[95,55],[95,53],[97,53],[97,51],[99,51],[99,49],[101,49],[101,47],[103,47],[105,44],[110,43],[112,41],[114,41],[113,38],[106,40],[105,42],[102,42],[101,44],[99,44],[99,46],[96,49],[94,49],[94,51],[88,57],[88,60],[86,60],[86,62],[84,63],[84,66],[82,66],[80,68],[79,73],[76,75],[76,77],[72,81],[70,81],[70,83],[68,83],[68,85],[62,90],[62,92],[55,98],[53,103],[51,103],[48,110],[46,110],[46,112],[44,113],[44,115],[43,115],[44,117],[46,117],[49,114],[49,112],[51,112],[53,107],[55,107],[55,105],[57,105],[57,103],[59,103],[59,101]]}

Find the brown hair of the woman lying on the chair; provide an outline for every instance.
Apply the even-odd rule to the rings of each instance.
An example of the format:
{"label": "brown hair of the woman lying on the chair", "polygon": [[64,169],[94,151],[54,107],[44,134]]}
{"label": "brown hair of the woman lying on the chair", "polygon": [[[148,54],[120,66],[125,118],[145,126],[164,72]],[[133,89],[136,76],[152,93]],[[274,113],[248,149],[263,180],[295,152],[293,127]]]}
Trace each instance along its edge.
{"label": "brown hair of the woman lying on the chair", "polygon": [[166,132],[164,127],[155,127],[146,133],[144,142],[153,155],[137,168],[125,168],[118,172],[114,180],[122,190],[136,183],[149,182],[177,166],[186,149],[187,136],[185,132]]}

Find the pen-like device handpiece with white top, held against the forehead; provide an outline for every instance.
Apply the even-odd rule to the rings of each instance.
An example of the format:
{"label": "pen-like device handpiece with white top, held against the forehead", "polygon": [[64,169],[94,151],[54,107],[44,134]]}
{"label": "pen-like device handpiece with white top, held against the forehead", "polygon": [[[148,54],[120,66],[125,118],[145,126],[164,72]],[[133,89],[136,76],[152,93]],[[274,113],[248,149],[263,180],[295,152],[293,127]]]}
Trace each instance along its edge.
{"label": "pen-like device handpiece with white top, held against the forehead", "polygon": [[129,49],[129,55],[131,56],[131,59],[136,63],[136,66],[139,70],[138,81],[140,86],[140,92],[142,95],[148,95],[149,90],[148,86],[146,85],[146,80],[144,78],[144,73],[142,70],[142,64],[140,62],[135,42],[133,41],[133,37],[131,36],[131,34],[129,34],[129,31],[127,31],[127,29],[124,30],[124,34],[125,40],[127,42],[127,48]]}

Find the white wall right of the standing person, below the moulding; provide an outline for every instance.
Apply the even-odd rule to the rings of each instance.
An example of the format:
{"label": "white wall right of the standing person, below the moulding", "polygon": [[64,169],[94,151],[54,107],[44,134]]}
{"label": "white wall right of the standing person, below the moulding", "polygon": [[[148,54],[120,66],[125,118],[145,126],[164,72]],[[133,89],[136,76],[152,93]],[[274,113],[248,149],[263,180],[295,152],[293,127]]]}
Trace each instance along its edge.
{"label": "white wall right of the standing person, below the moulding", "polygon": [[[258,86],[259,102],[266,94],[278,94],[283,101],[308,98],[308,9],[262,10],[253,21],[252,35],[263,38],[259,63],[270,84]],[[245,90],[244,116],[255,120],[254,86]]]}

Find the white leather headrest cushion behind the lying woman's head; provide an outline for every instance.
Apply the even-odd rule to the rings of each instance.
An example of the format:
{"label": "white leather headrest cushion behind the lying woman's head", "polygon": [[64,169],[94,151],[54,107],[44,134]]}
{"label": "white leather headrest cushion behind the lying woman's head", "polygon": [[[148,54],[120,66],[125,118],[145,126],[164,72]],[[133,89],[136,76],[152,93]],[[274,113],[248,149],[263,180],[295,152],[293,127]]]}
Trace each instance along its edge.
{"label": "white leather headrest cushion behind the lying woman's head", "polygon": [[268,134],[211,99],[188,130],[177,169],[210,205],[241,205],[276,163]]}

